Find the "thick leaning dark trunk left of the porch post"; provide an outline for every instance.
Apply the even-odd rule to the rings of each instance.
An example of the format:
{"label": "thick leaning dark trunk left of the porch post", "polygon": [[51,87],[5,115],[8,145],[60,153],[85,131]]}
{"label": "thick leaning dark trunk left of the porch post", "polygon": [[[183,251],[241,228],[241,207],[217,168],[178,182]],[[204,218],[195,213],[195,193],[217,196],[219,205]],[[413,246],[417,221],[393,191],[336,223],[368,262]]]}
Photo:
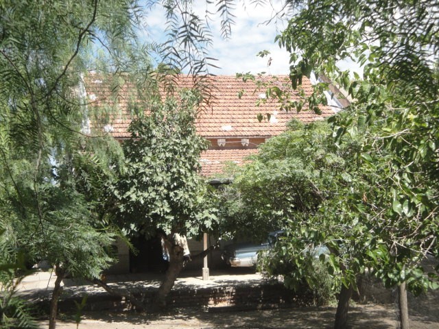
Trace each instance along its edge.
{"label": "thick leaning dark trunk left of the porch post", "polygon": [[156,295],[154,306],[156,308],[161,308],[166,306],[166,298],[172,287],[174,287],[174,282],[180,274],[180,271],[185,265],[183,258],[183,249],[178,245],[172,245],[169,250],[169,267],[167,268],[165,274],[165,280],[163,280],[160,288]]}

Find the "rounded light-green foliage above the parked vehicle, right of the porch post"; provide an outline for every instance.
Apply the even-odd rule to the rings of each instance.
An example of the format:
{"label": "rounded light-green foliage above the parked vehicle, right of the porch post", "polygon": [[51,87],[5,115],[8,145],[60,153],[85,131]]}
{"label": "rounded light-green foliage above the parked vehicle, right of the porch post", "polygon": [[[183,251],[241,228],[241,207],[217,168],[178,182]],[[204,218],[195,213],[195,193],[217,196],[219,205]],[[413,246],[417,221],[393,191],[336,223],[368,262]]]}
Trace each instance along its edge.
{"label": "rounded light-green foliage above the parked vehicle, right of the porch post", "polygon": [[329,134],[323,121],[292,121],[287,132],[270,138],[224,192],[222,218],[225,226],[230,223],[228,230],[265,234],[292,218],[306,222],[334,193],[333,177],[344,171],[344,158],[352,151],[335,147]]}

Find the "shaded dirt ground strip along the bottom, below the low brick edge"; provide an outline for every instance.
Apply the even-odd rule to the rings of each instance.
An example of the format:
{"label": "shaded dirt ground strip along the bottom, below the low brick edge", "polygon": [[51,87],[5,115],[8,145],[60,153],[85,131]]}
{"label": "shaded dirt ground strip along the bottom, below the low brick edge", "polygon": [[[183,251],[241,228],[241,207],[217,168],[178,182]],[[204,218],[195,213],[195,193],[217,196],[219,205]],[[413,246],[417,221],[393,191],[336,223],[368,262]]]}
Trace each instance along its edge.
{"label": "shaded dirt ground strip along the bottom, below the low brick edge", "polygon": [[[410,315],[412,329],[439,329],[439,309],[434,305],[434,314]],[[228,312],[202,312],[180,309],[161,315],[137,315],[134,313],[86,313],[80,322],[80,329],[178,329],[178,328],[332,328],[335,307],[283,308],[275,310],[246,310]],[[62,315],[56,328],[73,329],[73,316]],[[68,318],[72,318],[69,320]],[[349,310],[349,324],[352,329],[397,328],[396,313],[392,305],[355,305]],[[40,322],[40,328],[47,328],[47,321]]]}

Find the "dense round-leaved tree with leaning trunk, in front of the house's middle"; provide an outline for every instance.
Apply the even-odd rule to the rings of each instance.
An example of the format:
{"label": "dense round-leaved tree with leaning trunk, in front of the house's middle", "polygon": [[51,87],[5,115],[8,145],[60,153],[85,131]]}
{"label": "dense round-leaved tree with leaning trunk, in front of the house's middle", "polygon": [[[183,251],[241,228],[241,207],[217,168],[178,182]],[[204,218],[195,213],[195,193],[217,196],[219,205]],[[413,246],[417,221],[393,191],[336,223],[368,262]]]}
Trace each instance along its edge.
{"label": "dense round-leaved tree with leaning trunk, in front of the house's middle", "polygon": [[[130,124],[131,138],[123,144],[125,171],[113,186],[121,226],[128,234],[158,232],[169,252],[169,268],[156,296],[164,306],[185,263],[186,236],[199,236],[215,221],[206,207],[206,184],[200,177],[204,138],[195,133],[200,98],[183,91],[179,99],[153,105],[149,114]],[[157,305],[157,304],[156,304]]]}

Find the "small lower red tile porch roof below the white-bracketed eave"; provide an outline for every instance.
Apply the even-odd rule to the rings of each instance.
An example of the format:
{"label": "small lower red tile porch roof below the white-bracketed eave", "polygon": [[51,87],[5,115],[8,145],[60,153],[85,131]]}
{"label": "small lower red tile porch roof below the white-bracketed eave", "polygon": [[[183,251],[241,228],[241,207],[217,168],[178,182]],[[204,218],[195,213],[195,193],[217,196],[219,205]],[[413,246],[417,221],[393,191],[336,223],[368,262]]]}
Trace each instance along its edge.
{"label": "small lower red tile porch roof below the white-bracketed eave", "polygon": [[257,153],[258,149],[208,149],[200,156],[201,174],[210,177],[215,173],[222,173],[227,162],[241,165],[246,162],[247,156]]}

